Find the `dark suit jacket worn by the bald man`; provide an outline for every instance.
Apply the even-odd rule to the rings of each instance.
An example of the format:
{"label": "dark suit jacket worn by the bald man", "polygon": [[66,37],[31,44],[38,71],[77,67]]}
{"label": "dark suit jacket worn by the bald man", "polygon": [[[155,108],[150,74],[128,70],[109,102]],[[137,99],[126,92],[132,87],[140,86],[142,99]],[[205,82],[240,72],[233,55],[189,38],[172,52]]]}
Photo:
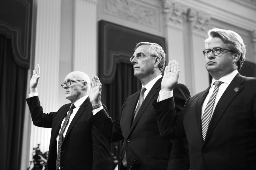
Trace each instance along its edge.
{"label": "dark suit jacket worn by the bald man", "polygon": [[[27,103],[33,124],[52,128],[47,166],[48,170],[56,170],[56,137],[71,103],[62,106],[57,112],[49,114],[43,113],[38,96],[28,98]],[[110,143],[89,121],[92,110],[92,104],[88,97],[71,121],[61,146],[61,170],[108,169]]]}

